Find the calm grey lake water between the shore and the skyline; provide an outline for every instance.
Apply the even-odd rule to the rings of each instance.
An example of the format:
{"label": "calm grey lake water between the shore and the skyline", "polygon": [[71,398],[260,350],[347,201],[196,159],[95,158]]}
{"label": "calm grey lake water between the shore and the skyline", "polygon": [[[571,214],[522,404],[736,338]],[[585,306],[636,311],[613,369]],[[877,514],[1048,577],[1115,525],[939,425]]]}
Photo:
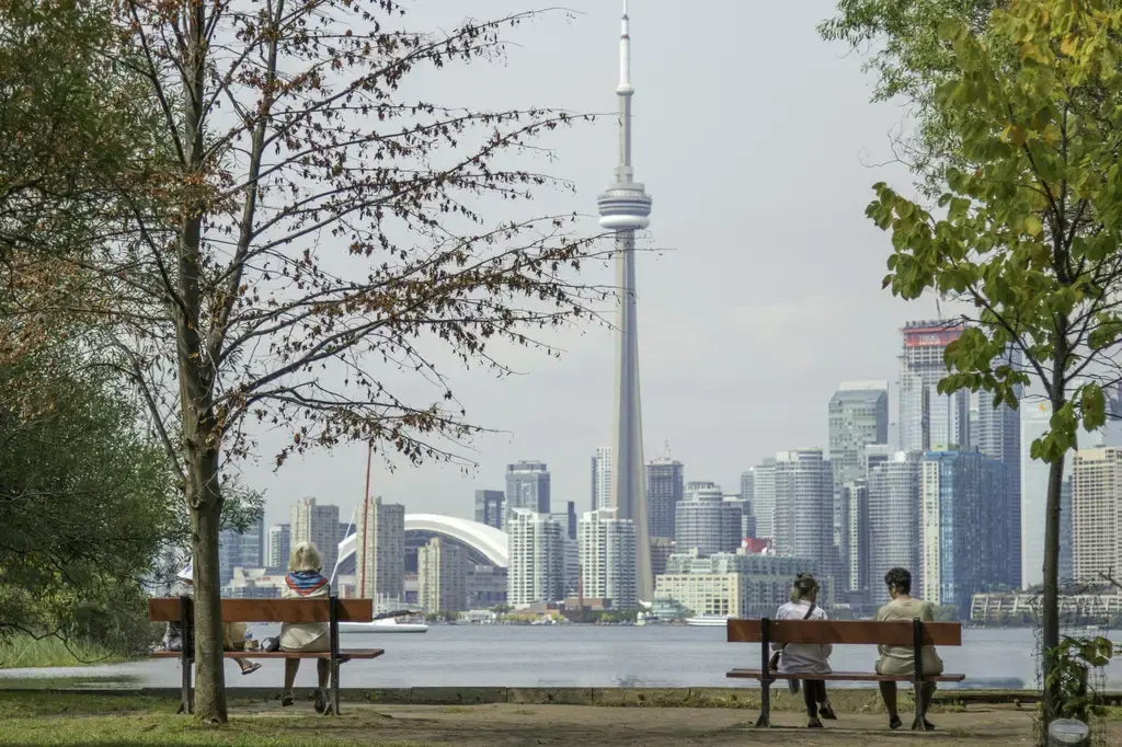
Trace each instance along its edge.
{"label": "calm grey lake water between the shore and the skyline", "polygon": [[[275,628],[254,626],[256,637]],[[1115,636],[1118,637],[1118,636]],[[967,688],[1036,689],[1036,633],[1032,629],[963,630],[960,648],[941,648],[948,672],[965,672]],[[614,626],[433,626],[420,635],[346,635],[343,647],[385,648],[381,658],[351,662],[342,682],[352,688],[512,686],[512,688],[686,688],[754,686],[725,677],[732,667],[758,667],[760,648],[729,644],[725,628]],[[872,646],[835,646],[838,671],[868,671]],[[231,686],[280,682],[283,663],[263,662],[260,671],[239,676],[227,663]],[[8,670],[0,677],[129,677],[149,686],[177,686],[174,660],[66,670]],[[311,684],[311,662],[297,684]],[[1122,661],[1107,671],[1109,686],[1122,689]]]}

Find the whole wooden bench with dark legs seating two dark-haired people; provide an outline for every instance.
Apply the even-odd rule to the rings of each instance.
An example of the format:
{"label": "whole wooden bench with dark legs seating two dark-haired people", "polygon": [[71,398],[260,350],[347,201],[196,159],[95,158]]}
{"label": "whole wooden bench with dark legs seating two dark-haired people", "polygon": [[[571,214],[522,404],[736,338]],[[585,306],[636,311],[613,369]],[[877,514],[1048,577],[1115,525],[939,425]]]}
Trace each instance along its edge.
{"label": "whole wooden bench with dark legs seating two dark-haired people", "polygon": [[[725,676],[760,680],[761,702],[757,727],[771,726],[771,683],[776,680],[827,680],[835,682],[912,682],[916,685],[913,729],[925,731],[923,682],[962,682],[965,674],[923,675],[921,646],[962,646],[963,626],[958,622],[877,622],[873,620],[729,620],[729,643],[758,643],[760,668],[733,670]],[[914,649],[916,675],[891,676],[876,672],[834,672],[833,674],[780,674],[769,671],[771,645],[778,644],[861,644],[909,646]]]}

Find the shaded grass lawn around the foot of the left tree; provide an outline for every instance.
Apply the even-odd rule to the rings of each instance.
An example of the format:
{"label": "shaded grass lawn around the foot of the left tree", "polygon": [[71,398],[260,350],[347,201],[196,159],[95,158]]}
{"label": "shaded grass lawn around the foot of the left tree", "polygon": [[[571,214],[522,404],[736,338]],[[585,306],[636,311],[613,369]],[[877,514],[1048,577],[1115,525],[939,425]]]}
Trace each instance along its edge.
{"label": "shaded grass lawn around the foot of the left tree", "polygon": [[166,698],[0,691],[0,745],[378,745],[368,736],[373,723],[355,716],[335,721],[307,712],[238,714],[227,726],[212,728],[175,716],[176,706]]}

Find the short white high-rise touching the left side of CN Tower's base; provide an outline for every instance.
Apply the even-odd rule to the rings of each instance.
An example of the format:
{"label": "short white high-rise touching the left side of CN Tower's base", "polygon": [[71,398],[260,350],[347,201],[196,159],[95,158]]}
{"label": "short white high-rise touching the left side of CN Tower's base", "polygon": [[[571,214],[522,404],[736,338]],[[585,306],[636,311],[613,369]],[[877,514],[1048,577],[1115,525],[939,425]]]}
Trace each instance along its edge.
{"label": "short white high-rise touching the left side of CN Tower's base", "polygon": [[580,537],[580,580],[586,598],[610,599],[614,609],[635,609],[635,525],[614,508],[585,514]]}

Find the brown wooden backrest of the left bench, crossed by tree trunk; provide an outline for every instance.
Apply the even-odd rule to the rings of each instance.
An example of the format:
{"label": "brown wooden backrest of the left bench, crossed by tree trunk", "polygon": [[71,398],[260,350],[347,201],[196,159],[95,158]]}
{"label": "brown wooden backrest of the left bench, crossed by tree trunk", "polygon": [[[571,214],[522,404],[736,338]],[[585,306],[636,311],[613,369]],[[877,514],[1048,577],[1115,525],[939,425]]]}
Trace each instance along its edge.
{"label": "brown wooden backrest of the left bench, crossed by tree trunk", "polygon": [[[374,600],[338,600],[340,622],[374,620]],[[178,597],[148,600],[148,619],[153,622],[182,622],[183,609]],[[330,622],[331,600],[316,599],[223,599],[224,622]]]}

